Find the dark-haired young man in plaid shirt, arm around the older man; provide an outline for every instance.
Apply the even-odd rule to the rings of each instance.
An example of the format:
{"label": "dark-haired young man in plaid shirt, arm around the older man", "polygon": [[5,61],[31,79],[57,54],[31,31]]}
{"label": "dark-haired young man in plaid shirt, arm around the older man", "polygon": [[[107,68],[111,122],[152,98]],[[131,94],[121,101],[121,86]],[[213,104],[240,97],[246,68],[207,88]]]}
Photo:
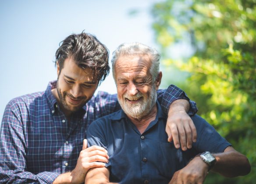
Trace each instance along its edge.
{"label": "dark-haired young man in plaid shirt, arm around the older man", "polygon": [[[108,56],[96,37],[70,35],[56,52],[57,81],[50,82],[45,92],[7,104],[0,130],[0,183],[81,183],[90,168],[104,166],[106,150],[87,148],[83,139],[93,120],[120,109],[116,95],[100,92],[93,96],[109,73]],[[189,148],[196,131],[182,107],[187,101],[181,99],[188,98],[173,85],[158,94],[166,112],[180,99],[171,105],[167,124],[173,129],[167,127],[167,132],[177,144],[177,132],[185,132],[180,136],[181,146]],[[181,121],[173,121],[175,110]],[[195,103],[191,102],[190,110],[196,113]]]}

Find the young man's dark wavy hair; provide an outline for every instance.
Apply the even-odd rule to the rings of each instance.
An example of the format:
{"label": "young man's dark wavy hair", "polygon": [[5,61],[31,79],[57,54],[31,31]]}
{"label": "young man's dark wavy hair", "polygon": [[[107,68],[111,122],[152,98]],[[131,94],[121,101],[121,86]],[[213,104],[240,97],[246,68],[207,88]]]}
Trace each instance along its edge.
{"label": "young man's dark wavy hair", "polygon": [[105,45],[89,33],[69,35],[60,42],[55,57],[55,66],[58,63],[60,71],[64,66],[64,60],[71,57],[78,67],[92,69],[99,84],[109,74],[109,51]]}

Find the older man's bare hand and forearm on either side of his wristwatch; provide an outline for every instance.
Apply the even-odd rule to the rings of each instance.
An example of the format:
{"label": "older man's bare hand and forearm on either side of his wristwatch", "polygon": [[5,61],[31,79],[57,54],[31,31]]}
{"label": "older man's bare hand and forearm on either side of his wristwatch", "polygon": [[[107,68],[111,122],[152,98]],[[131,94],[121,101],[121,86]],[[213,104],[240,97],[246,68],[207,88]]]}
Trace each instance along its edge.
{"label": "older man's bare hand and forearm on either side of his wristwatch", "polygon": [[[234,148],[228,146],[223,153],[213,154],[216,163],[211,169],[224,177],[237,177],[248,174],[251,170],[248,159]],[[208,172],[208,165],[197,156],[187,166],[174,173],[170,184],[203,184]]]}

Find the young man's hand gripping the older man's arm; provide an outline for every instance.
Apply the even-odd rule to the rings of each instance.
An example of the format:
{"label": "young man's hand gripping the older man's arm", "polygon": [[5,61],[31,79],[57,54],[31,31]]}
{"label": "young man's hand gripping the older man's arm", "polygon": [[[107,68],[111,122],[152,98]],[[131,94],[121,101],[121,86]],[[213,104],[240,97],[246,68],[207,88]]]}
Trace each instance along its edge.
{"label": "young man's hand gripping the older man's arm", "polygon": [[[90,168],[104,167],[108,163],[109,156],[107,150],[93,145],[87,148],[87,140],[83,141],[83,148],[77,160],[75,169],[71,171],[72,183],[83,183],[85,175]],[[105,162],[105,163],[104,163]]]}

